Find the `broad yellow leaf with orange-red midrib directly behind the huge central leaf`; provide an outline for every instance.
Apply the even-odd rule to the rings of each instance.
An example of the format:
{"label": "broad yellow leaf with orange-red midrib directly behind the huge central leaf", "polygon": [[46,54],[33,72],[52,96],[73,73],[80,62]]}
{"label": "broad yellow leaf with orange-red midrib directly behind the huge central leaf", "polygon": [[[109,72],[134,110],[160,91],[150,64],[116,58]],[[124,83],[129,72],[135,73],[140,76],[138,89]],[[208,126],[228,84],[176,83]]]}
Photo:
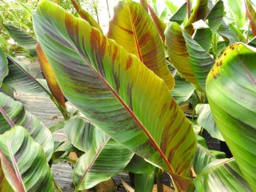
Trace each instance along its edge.
{"label": "broad yellow leaf with orange-red midrib directly behind the huge central leaf", "polygon": [[173,89],[174,79],[164,55],[164,44],[144,8],[132,1],[119,1],[110,21],[108,37],[137,57]]}

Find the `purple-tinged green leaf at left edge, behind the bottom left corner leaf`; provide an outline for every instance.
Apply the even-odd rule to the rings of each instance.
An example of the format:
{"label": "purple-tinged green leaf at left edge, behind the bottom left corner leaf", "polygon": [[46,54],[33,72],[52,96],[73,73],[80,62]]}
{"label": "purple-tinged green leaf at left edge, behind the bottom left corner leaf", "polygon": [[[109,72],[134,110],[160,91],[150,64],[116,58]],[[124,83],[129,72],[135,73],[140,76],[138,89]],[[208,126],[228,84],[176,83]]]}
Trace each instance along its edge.
{"label": "purple-tinged green leaf at left edge, behind the bottom left corner leaf", "polygon": [[[44,124],[35,116],[24,110],[24,105],[19,101],[15,101],[6,94],[0,93],[0,107],[8,118],[15,123],[21,125],[28,130],[31,137],[40,143],[44,149],[46,159],[49,161],[53,154],[53,137]],[[10,125],[3,120],[0,115],[0,134],[10,130]]]}

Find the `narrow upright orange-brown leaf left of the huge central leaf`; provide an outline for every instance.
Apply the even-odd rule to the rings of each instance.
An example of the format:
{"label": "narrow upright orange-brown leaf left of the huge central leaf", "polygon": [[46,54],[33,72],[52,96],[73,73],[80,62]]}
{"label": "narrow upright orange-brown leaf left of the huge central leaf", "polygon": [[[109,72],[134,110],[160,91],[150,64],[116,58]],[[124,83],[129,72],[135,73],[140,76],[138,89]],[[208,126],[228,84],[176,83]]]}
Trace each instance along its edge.
{"label": "narrow upright orange-brown leaf left of the huge central leaf", "polygon": [[44,78],[46,79],[47,84],[49,85],[49,88],[53,93],[53,96],[55,96],[59,103],[63,107],[65,107],[65,96],[63,96],[62,91],[60,90],[58,82],[56,81],[55,74],[53,73],[51,64],[49,64],[48,60],[46,59],[40,44],[37,43],[35,50],[37,51],[38,62],[44,74]]}

